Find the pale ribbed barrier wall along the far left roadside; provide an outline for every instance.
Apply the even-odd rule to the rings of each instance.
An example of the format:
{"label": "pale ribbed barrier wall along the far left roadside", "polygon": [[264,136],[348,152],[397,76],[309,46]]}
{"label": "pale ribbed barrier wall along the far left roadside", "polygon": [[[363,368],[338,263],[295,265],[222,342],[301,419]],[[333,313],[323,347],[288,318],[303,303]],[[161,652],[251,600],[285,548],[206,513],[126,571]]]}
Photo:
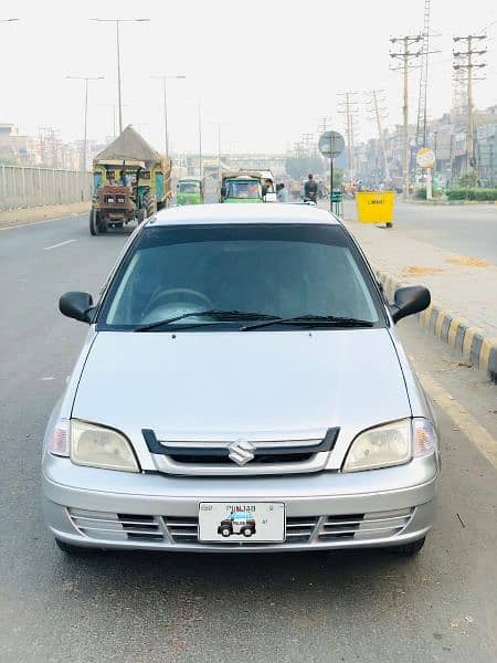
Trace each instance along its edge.
{"label": "pale ribbed barrier wall along the far left roadside", "polygon": [[67,204],[92,199],[92,173],[0,166],[0,210]]}

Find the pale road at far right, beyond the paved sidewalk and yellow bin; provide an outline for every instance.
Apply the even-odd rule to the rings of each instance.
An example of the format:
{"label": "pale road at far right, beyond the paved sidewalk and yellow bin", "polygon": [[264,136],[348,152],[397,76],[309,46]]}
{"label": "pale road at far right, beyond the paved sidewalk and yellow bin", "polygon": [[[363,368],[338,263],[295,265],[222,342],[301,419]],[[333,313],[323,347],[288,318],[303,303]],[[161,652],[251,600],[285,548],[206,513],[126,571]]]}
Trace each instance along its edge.
{"label": "pale road at far right, beyond the paved sidewalk and yellow bin", "polygon": [[[345,201],[346,218],[355,218],[355,201]],[[424,240],[459,255],[497,264],[497,206],[429,206],[398,201],[393,223],[398,232]]]}

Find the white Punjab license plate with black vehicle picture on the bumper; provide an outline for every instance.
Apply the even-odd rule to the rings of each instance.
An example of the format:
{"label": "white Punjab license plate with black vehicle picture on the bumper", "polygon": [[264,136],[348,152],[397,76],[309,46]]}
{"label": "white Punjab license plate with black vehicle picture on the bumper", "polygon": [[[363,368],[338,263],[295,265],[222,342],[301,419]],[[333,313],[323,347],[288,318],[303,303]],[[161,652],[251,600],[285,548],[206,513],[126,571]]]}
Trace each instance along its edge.
{"label": "white Punjab license plate with black vehicle picture on the bumper", "polygon": [[285,540],[285,505],[281,502],[201,502],[199,540],[282,543]]}

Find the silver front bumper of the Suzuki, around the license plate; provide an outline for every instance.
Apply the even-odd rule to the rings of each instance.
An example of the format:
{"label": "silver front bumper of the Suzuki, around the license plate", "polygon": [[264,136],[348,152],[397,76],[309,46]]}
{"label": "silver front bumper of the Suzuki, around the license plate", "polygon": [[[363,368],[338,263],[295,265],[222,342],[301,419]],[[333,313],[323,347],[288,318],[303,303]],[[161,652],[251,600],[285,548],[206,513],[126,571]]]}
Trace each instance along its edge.
{"label": "silver front bumper of the Suzuki, around the license plate", "polygon": [[[422,538],[435,517],[434,456],[340,474],[192,478],[73,465],[46,454],[43,512],[53,535],[96,548],[179,551],[284,551],[401,545]],[[200,502],[284,502],[279,544],[204,544]]]}

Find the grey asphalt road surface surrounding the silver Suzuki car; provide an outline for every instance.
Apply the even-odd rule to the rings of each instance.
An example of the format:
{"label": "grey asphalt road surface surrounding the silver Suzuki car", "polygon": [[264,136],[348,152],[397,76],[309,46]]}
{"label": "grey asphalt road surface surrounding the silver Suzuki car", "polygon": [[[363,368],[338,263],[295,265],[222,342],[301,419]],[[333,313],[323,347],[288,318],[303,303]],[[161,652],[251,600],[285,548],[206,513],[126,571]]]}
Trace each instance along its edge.
{"label": "grey asphalt road surface surrounding the silver Suzuki car", "polygon": [[[97,293],[125,239],[91,238],[83,217],[0,231],[0,661],[496,661],[497,471],[441,410],[440,515],[415,560],[70,559],[55,548],[40,509],[40,443],[86,332],[57,313],[57,297]],[[489,430],[495,388],[401,325],[420,369]]]}

